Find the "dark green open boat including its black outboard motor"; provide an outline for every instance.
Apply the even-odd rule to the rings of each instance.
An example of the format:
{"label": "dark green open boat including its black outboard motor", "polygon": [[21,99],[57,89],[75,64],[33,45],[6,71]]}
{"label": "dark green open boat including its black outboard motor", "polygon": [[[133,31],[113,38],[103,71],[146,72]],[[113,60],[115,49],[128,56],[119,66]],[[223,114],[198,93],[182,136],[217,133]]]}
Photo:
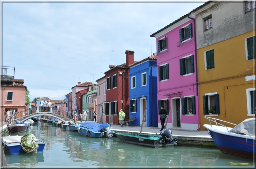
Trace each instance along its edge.
{"label": "dark green open boat including its black outboard motor", "polygon": [[116,133],[116,136],[123,142],[148,147],[166,147],[178,143],[176,138],[172,138],[172,132],[168,128],[162,130],[160,134],[156,133],[156,136],[129,133]]}

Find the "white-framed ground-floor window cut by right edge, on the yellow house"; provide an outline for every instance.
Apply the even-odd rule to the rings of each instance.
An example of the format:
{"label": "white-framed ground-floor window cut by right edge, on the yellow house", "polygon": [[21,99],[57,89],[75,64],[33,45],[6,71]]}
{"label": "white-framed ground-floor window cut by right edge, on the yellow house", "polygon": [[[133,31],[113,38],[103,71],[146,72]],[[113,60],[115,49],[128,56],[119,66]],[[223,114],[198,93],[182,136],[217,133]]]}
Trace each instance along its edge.
{"label": "white-framed ground-floor window cut by right edge, on the yellow house", "polygon": [[246,98],[247,98],[247,114],[255,115],[255,113],[256,113],[255,88],[247,88],[246,89]]}

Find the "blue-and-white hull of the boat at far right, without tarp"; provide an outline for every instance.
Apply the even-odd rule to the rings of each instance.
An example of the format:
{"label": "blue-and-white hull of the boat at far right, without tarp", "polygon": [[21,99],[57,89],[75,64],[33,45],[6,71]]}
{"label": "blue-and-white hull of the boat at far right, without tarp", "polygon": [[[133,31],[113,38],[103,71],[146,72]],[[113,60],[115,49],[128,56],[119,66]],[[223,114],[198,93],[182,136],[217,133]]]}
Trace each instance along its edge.
{"label": "blue-and-white hull of the boat at far right, without tarp", "polygon": [[253,158],[256,151],[255,141],[252,137],[230,132],[225,133],[223,130],[226,128],[221,130],[222,126],[213,125],[211,127],[209,124],[204,124],[204,127],[209,131],[214,143],[222,153]]}

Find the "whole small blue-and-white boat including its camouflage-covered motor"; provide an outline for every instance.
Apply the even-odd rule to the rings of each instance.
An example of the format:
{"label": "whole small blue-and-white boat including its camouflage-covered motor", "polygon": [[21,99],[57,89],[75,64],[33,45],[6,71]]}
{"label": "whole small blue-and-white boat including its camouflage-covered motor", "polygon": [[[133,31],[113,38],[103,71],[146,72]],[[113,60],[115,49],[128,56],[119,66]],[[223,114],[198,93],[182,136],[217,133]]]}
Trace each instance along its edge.
{"label": "whole small blue-and-white boat including its camouflage-covered motor", "polygon": [[[42,152],[44,150],[45,143],[38,139],[29,140],[33,138],[33,134],[25,135],[27,140],[22,141],[21,138],[24,136],[5,136],[2,137],[2,144],[4,151],[10,155],[21,154],[21,153],[31,153],[35,154],[36,152]],[[35,136],[34,136],[35,138]],[[35,142],[38,146],[33,147],[31,142]],[[25,150],[25,151],[24,151]]]}

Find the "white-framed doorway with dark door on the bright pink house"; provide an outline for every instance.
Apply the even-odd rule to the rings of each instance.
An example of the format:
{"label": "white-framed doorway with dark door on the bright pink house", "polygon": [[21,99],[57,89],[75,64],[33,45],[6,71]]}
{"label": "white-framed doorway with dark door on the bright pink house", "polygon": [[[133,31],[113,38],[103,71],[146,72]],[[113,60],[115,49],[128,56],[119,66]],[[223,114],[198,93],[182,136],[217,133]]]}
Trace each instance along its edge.
{"label": "white-framed doorway with dark door on the bright pink house", "polygon": [[172,98],[172,126],[181,127],[180,119],[180,97]]}

